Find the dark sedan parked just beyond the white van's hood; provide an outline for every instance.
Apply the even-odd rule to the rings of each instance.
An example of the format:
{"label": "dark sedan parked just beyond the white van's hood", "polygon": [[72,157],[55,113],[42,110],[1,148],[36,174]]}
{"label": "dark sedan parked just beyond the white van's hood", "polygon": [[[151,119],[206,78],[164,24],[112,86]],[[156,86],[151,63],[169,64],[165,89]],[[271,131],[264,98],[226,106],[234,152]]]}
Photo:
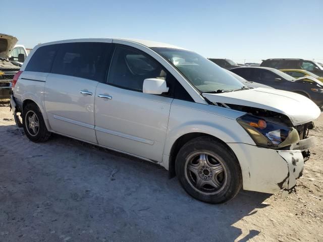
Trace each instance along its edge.
{"label": "dark sedan parked just beyond the white van's hood", "polygon": [[230,71],[251,82],[304,95],[319,107],[323,105],[323,85],[316,79],[311,81],[305,80],[306,77],[296,79],[277,69],[267,67],[239,67]]}

